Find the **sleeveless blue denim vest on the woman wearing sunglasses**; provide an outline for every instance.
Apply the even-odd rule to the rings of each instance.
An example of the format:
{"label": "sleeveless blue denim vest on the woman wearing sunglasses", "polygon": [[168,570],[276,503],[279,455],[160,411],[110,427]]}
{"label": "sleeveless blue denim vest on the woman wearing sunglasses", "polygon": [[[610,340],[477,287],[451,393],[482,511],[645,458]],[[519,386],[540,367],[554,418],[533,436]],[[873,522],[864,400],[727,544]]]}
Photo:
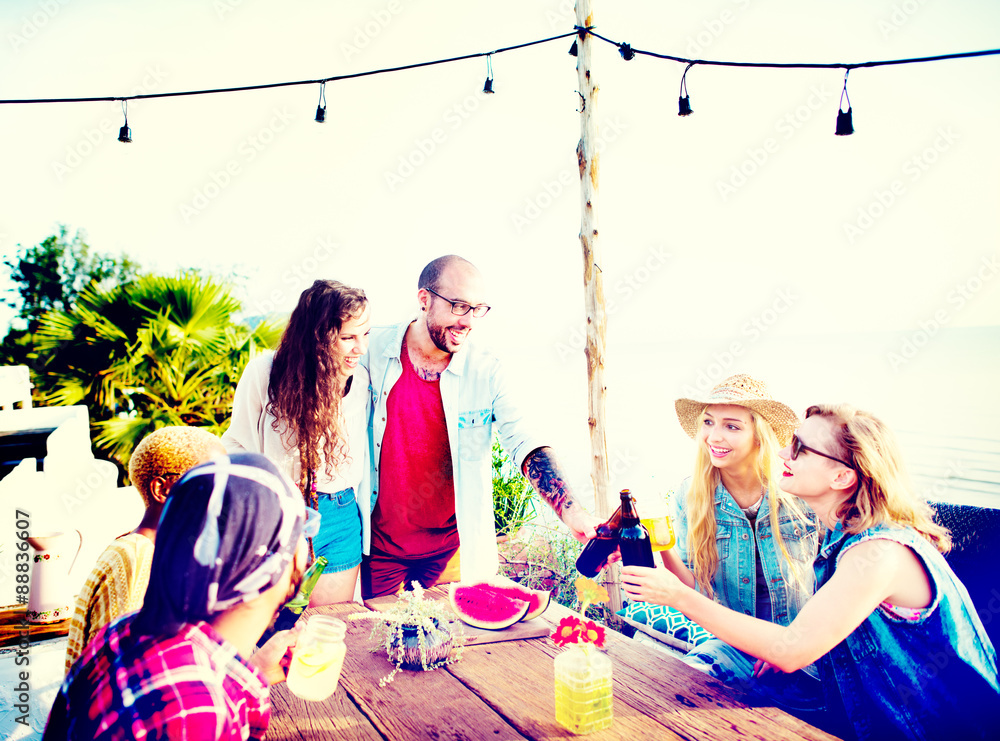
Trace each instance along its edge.
{"label": "sleeveless blue denim vest on the woman wearing sunglasses", "polygon": [[919,533],[877,525],[849,535],[838,524],[816,558],[817,589],[848,548],[873,539],[901,543],[917,554],[933,600],[918,620],[877,608],[820,659],[827,707],[842,707],[862,739],[996,738],[996,652],[965,586]]}

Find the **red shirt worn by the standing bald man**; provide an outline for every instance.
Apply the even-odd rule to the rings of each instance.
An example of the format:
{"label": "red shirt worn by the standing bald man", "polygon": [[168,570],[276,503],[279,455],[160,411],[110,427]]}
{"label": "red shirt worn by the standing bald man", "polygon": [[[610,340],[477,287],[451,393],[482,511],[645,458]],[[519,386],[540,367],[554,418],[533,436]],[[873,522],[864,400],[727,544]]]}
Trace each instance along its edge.
{"label": "red shirt worn by the standing bald man", "polygon": [[458,547],[455,482],[441,381],[420,378],[403,339],[403,373],[386,399],[372,547],[425,558]]}

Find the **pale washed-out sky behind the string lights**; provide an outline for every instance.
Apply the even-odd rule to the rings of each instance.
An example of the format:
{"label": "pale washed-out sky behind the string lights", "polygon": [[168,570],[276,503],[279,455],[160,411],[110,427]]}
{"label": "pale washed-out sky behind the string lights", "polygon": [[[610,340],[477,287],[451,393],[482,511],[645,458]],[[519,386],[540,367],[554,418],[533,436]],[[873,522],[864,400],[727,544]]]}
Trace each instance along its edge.
{"label": "pale washed-out sky behind the string lights", "polygon": [[[858,63],[1000,47],[991,0],[593,9],[608,38],[700,59]],[[487,52],[574,22],[566,0],[5,0],[0,98],[318,79]],[[66,224],[151,270],[233,277],[247,314],[289,311],[315,278],[358,285],[376,323],[412,314],[420,268],[458,253],[491,291],[479,336],[529,383],[533,369],[570,363],[585,389],[569,46],[493,55],[493,95],[482,93],[485,58],[331,82],[323,124],[316,84],[132,101],[130,144],[117,141],[119,102],[2,105],[0,249],[11,256]],[[750,358],[788,387],[806,367],[834,393],[876,401],[896,385],[977,383],[955,375],[968,358],[949,361],[942,338],[979,332],[986,360],[1000,349],[1000,57],[852,71],[852,136],[834,135],[843,70],[695,66],[694,113],[680,117],[683,71],[594,42],[609,366],[675,348],[670,367],[628,376],[666,399]],[[878,388],[851,357],[857,344],[875,348]],[[894,383],[920,354],[937,359],[919,384]],[[995,391],[982,396],[1000,413]]]}

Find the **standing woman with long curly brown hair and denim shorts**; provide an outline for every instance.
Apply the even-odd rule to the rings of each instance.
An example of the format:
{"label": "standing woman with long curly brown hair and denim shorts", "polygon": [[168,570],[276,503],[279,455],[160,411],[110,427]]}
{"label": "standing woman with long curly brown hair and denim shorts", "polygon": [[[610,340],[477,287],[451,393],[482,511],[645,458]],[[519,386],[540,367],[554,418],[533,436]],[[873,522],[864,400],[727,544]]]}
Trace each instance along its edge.
{"label": "standing woman with long curly brown hair and denim shorts", "polygon": [[222,442],[263,453],[323,515],[313,554],[328,564],[311,604],[354,598],[371,504],[357,501],[368,474],[368,349],[364,291],[317,280],[302,292],[274,353],[254,358],[233,399]]}

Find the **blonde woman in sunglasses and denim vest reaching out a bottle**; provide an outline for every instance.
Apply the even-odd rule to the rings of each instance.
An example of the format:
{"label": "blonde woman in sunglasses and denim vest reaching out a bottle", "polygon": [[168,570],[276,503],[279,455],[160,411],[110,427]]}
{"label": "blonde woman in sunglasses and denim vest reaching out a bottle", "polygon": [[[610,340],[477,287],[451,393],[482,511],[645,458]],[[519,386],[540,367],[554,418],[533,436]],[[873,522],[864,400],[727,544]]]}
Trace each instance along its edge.
{"label": "blonde woman in sunglasses and denim vest reaching out a bottle", "polygon": [[816,594],[791,624],[727,609],[665,569],[624,568],[625,591],[757,657],[758,674],[818,661],[827,708],[848,736],[996,738],[996,651],[888,427],[850,406],[813,406],[781,457],[781,488],[826,528]]}

